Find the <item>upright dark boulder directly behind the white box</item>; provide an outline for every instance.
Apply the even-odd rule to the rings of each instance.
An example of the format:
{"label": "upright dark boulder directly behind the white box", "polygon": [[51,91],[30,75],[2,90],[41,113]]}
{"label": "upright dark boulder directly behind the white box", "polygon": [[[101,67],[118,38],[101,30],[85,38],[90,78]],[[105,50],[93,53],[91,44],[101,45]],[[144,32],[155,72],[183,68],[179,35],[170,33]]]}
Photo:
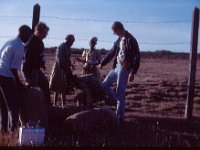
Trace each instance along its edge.
{"label": "upright dark boulder directly behind the white box", "polygon": [[20,121],[22,126],[28,122],[40,121],[40,126],[47,127],[48,112],[43,91],[39,87],[26,88],[22,92]]}

